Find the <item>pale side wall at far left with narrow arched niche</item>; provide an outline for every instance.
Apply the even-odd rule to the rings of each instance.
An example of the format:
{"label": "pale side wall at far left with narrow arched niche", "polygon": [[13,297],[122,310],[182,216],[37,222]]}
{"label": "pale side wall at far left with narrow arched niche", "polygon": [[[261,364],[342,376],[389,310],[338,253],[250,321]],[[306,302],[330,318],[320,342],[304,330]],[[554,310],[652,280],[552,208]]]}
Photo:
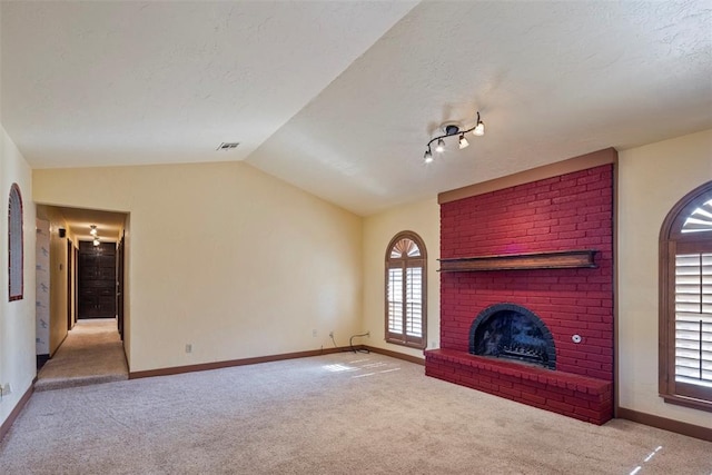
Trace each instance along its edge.
{"label": "pale side wall at far left with narrow arched niche", "polygon": [[[0,126],[0,196],[7,209],[10,187],[22,192],[24,234],[24,298],[8,301],[8,273],[0,271],[0,384],[11,393],[0,400],[0,423],[4,422],[32,384],[34,356],[34,204],[29,165]],[[7,216],[7,215],[4,215]],[[8,268],[8,219],[0,219],[0,268]]]}

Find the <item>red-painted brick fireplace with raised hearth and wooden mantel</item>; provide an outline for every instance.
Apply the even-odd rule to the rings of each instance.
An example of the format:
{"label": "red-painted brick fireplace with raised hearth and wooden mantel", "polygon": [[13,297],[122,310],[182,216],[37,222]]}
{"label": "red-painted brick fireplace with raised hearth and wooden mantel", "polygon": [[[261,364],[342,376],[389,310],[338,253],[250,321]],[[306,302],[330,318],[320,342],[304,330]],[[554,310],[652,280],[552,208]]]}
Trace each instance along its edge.
{"label": "red-painted brick fireplace with raised hearth and wooden mantel", "polygon": [[426,374],[609,420],[613,165],[441,202],[441,348]]}

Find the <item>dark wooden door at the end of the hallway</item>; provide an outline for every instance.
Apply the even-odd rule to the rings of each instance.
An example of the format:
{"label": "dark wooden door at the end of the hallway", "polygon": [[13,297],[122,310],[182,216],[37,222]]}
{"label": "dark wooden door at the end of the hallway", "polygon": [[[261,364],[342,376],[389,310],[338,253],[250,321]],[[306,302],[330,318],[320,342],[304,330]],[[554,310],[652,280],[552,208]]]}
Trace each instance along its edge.
{"label": "dark wooden door at the end of the hallway", "polygon": [[116,244],[79,243],[79,318],[116,317]]}

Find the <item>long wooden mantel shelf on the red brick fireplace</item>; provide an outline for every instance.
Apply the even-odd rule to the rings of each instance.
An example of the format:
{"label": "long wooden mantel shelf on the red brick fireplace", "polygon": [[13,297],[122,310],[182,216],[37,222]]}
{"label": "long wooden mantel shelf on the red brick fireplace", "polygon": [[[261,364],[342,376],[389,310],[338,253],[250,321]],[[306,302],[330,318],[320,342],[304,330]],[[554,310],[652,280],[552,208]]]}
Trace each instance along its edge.
{"label": "long wooden mantel shelf on the red brick fireplace", "polygon": [[557,250],[553,253],[505,254],[500,256],[456,257],[438,259],[441,273],[474,273],[481,270],[572,269],[595,268],[597,250]]}

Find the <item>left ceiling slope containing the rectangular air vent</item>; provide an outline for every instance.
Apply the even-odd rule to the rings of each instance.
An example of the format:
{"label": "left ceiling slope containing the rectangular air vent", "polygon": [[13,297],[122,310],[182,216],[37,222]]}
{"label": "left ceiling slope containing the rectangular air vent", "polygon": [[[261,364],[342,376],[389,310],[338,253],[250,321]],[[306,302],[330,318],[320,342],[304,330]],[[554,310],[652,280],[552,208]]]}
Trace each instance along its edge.
{"label": "left ceiling slope containing the rectangular air vent", "polygon": [[0,120],[34,167],[240,160],[414,4],[2,2]]}

